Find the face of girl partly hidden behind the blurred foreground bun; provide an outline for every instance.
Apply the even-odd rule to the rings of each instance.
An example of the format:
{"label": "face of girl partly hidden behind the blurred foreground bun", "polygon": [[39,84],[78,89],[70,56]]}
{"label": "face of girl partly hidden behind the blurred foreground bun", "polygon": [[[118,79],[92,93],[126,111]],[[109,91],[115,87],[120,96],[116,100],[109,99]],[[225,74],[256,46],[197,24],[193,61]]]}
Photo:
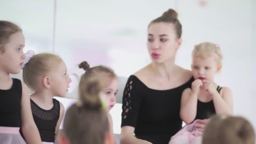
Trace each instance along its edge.
{"label": "face of girl partly hidden behind the blurred foreground bun", "polygon": [[109,85],[101,91],[101,95],[107,100],[107,111],[109,112],[116,103],[115,96],[118,92],[118,80],[117,77],[113,78]]}

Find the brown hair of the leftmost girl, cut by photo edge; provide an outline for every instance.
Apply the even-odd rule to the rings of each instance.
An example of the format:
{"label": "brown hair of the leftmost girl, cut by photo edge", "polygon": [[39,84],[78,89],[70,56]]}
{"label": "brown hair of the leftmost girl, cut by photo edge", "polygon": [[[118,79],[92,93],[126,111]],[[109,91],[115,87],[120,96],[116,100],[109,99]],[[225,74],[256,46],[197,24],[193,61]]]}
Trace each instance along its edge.
{"label": "brown hair of the leftmost girl, cut by photo edge", "polygon": [[21,28],[10,21],[0,21],[0,51],[4,52],[5,44],[9,38],[16,32],[22,32]]}

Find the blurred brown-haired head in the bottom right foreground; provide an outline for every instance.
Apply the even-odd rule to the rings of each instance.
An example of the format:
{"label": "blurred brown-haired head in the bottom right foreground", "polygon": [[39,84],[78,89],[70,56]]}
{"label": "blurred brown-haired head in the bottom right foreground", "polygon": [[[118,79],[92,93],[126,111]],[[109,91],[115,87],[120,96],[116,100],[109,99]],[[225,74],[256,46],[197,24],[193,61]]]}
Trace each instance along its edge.
{"label": "blurred brown-haired head in the bottom right foreground", "polygon": [[216,117],[215,120],[210,120],[205,128],[202,144],[255,143],[255,133],[248,120],[243,117],[231,116],[220,119],[220,117]]}

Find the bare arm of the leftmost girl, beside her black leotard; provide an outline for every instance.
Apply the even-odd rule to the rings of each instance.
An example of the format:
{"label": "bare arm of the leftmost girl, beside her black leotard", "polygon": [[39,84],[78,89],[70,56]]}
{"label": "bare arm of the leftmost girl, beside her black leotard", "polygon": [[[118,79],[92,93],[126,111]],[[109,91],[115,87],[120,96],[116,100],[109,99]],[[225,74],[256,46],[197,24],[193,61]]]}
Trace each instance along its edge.
{"label": "bare arm of the leftmost girl, beside her black leotard", "polygon": [[40,134],[32,116],[29,91],[25,83],[22,85],[21,96],[21,131],[27,144],[42,144]]}

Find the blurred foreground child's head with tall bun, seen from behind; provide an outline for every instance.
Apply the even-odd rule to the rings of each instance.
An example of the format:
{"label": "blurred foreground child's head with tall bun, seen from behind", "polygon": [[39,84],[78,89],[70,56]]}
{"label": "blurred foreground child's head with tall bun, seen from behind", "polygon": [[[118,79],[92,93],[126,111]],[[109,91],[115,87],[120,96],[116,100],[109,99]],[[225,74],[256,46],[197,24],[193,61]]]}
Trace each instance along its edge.
{"label": "blurred foreground child's head with tall bun, seen from behind", "polygon": [[64,118],[63,131],[71,144],[104,144],[109,133],[107,112],[102,108],[99,77],[83,77],[79,83],[79,101]]}

